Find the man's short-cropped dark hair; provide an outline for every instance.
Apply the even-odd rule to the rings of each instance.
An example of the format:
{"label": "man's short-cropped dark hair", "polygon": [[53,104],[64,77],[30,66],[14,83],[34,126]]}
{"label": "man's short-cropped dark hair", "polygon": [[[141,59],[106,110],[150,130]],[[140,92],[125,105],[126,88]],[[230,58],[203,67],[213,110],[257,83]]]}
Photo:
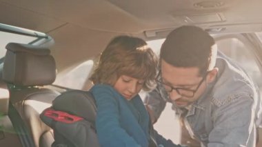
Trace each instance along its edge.
{"label": "man's short-cropped dark hair", "polygon": [[214,39],[205,30],[196,26],[181,26],[166,37],[161,46],[160,59],[175,67],[197,67],[203,76],[210,70],[210,65],[214,65],[214,43]]}

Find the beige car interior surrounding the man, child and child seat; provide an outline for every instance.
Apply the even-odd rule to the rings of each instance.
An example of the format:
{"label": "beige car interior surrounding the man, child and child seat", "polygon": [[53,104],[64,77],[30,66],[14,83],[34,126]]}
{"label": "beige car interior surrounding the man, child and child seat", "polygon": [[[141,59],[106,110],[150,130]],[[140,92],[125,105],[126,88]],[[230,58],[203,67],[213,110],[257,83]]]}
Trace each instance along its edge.
{"label": "beige car interior surrounding the man, child and child seat", "polygon": [[[261,6],[261,0],[0,0],[1,146],[51,146],[53,130],[39,115],[68,90],[89,90],[99,55],[117,35],[140,37],[159,54],[174,28],[199,26],[262,92]],[[168,105],[154,128],[180,144],[170,116]]]}

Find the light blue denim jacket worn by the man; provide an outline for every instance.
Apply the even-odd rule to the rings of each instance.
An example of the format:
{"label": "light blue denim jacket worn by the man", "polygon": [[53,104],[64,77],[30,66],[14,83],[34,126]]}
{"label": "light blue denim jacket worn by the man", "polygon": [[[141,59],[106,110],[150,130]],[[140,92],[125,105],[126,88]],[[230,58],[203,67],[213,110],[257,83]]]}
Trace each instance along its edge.
{"label": "light blue denim jacket worn by the man", "polygon": [[[252,79],[234,61],[218,52],[216,80],[186,109],[172,109],[183,118],[190,136],[201,146],[255,146],[256,126],[261,111],[260,94]],[[159,85],[144,103],[159,118],[166,102],[171,102]],[[182,113],[185,117],[181,117]]]}

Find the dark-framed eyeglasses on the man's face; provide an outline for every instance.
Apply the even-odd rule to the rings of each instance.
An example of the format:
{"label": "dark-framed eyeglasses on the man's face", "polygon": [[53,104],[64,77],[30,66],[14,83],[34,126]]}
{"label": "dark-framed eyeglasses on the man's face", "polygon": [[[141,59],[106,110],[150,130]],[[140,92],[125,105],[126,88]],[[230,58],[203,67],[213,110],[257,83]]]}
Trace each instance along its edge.
{"label": "dark-framed eyeglasses on the man's face", "polygon": [[[177,92],[179,95],[181,95],[181,96],[183,96],[183,97],[192,98],[192,97],[194,97],[194,94],[197,92],[197,90],[199,90],[199,87],[201,86],[201,84],[203,84],[203,81],[205,81],[205,79],[206,79],[206,77],[208,76],[208,73],[209,73],[209,72],[206,72],[206,73],[205,73],[205,75],[203,76],[203,79],[201,79],[201,81],[199,81],[199,84],[196,86],[196,89],[195,89],[195,90],[188,89],[188,88],[179,88],[179,87],[178,87],[178,88],[174,88],[173,86],[170,86],[170,85],[168,85],[168,84],[165,84],[165,83],[163,83],[163,81],[160,81],[160,80],[159,80],[159,76],[161,75],[160,73],[161,73],[161,70],[159,70],[159,73],[158,73],[155,81],[156,81],[157,83],[159,83],[159,84],[162,84],[162,85],[165,85],[165,86],[169,86],[169,87],[171,88],[171,90],[166,90],[166,88],[164,88],[166,92],[170,93],[170,92],[172,92],[173,90],[176,90],[176,92]],[[162,79],[162,77],[161,77],[161,79]],[[193,95],[192,95],[192,96],[183,95],[183,94],[181,94],[181,92],[179,92],[179,89],[193,92]]]}

